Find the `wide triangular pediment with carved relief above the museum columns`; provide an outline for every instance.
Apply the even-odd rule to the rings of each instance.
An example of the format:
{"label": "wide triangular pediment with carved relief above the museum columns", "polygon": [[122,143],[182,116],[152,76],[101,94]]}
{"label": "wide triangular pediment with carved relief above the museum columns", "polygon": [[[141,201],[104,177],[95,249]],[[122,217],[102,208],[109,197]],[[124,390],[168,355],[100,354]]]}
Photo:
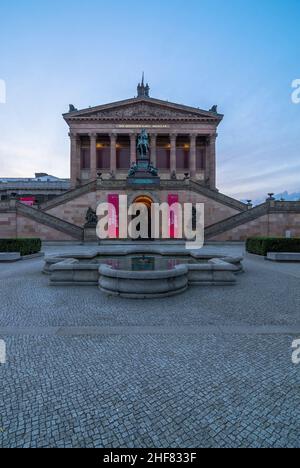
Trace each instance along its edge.
{"label": "wide triangular pediment with carved relief above the museum columns", "polygon": [[157,99],[130,99],[65,114],[66,120],[97,121],[220,121],[222,115]]}

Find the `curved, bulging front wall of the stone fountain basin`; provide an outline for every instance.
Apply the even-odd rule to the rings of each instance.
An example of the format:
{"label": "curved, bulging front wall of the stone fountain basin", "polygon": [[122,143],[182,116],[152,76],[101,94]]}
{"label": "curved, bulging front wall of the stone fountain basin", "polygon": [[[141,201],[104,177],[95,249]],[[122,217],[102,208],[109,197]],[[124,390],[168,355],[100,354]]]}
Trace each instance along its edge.
{"label": "curved, bulging front wall of the stone fountain basin", "polygon": [[113,296],[132,299],[168,297],[188,287],[188,268],[177,265],[172,270],[125,271],[108,265],[99,268],[99,289]]}

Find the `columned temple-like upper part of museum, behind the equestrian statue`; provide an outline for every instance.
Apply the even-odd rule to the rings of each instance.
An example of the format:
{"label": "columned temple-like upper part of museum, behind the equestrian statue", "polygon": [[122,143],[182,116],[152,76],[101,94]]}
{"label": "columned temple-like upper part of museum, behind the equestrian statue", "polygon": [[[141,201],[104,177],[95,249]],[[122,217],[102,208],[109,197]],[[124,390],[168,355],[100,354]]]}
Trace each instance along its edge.
{"label": "columned temple-like upper part of museum, behind the equestrian statue", "polygon": [[151,162],[162,180],[193,180],[216,188],[217,127],[223,116],[210,111],[149,97],[149,86],[139,84],[136,98],[82,111],[70,106],[64,119],[70,128],[71,182],[75,188],[95,180],[127,178],[136,161],[141,129],[151,140]]}

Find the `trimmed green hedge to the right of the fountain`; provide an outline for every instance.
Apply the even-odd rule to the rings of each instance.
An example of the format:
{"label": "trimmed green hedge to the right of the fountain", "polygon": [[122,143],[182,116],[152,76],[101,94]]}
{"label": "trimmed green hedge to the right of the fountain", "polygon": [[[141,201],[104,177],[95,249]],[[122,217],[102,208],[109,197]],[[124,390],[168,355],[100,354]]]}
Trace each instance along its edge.
{"label": "trimmed green hedge to the right of the fountain", "polygon": [[263,256],[268,252],[300,252],[300,238],[250,237],[246,241],[246,250]]}

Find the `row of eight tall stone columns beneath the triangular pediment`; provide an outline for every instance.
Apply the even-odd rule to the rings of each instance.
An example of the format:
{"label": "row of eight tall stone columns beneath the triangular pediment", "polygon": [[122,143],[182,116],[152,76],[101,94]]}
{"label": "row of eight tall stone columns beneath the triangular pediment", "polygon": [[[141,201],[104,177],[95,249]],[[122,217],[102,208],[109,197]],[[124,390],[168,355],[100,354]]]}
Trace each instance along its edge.
{"label": "row of eight tall stone columns beneath the triangular pediment", "polygon": [[[80,179],[80,134],[70,133],[71,139],[71,184],[72,187],[78,185]],[[97,133],[90,133],[90,179],[97,178]],[[151,162],[156,166],[157,162],[157,133],[150,134]],[[178,135],[171,133],[170,138],[170,176],[176,174],[176,143]],[[190,134],[190,155],[189,172],[193,179],[197,173],[197,137],[198,134]],[[117,138],[116,133],[110,134],[110,171],[117,171]],[[137,134],[130,134],[130,162],[136,161],[136,138]],[[211,189],[216,188],[216,138],[217,134],[207,136],[206,160],[205,160],[205,181]]]}

